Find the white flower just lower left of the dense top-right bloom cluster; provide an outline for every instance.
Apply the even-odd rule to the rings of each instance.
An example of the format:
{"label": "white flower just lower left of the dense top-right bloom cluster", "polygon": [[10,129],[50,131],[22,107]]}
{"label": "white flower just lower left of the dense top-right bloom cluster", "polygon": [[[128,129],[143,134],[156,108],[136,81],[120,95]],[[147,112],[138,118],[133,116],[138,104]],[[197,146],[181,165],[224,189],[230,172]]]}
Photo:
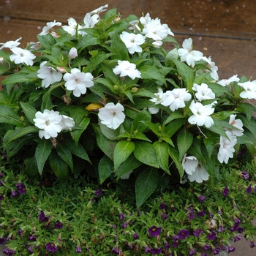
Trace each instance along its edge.
{"label": "white flower just lower left of the dense top-right bloom cluster", "polygon": [[126,45],[129,53],[141,53],[142,48],[140,45],[143,45],[145,42],[145,37],[142,34],[134,34],[134,33],[127,33],[124,31],[120,35],[121,40],[124,42]]}

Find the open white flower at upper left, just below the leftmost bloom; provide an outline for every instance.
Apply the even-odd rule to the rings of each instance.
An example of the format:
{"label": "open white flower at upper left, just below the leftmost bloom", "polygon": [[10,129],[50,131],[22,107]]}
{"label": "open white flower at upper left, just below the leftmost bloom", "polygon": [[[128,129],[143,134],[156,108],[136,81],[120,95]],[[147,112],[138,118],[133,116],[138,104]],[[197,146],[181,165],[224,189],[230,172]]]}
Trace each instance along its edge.
{"label": "open white flower at upper left, just below the leftmost bloom", "polygon": [[29,50],[24,50],[22,48],[11,48],[12,55],[10,56],[10,60],[14,61],[15,64],[26,64],[28,66],[33,66],[33,59],[36,58],[33,53]]}

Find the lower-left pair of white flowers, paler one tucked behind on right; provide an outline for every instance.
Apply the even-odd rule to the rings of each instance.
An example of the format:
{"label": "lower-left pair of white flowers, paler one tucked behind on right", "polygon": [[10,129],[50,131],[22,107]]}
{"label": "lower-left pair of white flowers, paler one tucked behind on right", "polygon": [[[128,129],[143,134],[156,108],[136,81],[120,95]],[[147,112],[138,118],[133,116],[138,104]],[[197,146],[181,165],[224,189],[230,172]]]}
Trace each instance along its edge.
{"label": "lower-left pair of white flowers, paler one tucked behind on right", "polygon": [[33,119],[34,125],[38,127],[39,138],[56,138],[58,133],[64,129],[71,130],[75,126],[73,118],[69,116],[60,115],[58,111],[47,110],[44,112],[38,111]]}

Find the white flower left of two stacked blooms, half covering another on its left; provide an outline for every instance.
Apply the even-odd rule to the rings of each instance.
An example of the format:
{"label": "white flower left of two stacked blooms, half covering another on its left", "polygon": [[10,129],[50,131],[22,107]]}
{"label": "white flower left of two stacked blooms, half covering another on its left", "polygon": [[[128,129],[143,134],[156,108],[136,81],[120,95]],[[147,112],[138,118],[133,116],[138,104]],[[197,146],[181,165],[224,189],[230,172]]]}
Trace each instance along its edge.
{"label": "white flower left of two stacked blooms, half covering another on its left", "polygon": [[161,102],[165,107],[169,106],[170,110],[175,111],[178,108],[184,108],[185,102],[191,99],[191,94],[185,88],[176,88],[172,91],[165,92],[165,99]]}

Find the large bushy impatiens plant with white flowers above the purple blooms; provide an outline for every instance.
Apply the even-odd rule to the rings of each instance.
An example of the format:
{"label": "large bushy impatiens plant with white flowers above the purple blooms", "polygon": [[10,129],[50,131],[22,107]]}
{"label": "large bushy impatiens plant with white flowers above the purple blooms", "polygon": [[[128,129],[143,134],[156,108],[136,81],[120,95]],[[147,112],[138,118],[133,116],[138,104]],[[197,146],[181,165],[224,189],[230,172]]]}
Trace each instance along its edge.
{"label": "large bushy impatiens plant with white flowers above the purple blooms", "polygon": [[1,43],[9,159],[22,156],[30,176],[85,170],[100,184],[132,173],[140,207],[169,184],[222,175],[241,145],[254,155],[255,80],[219,80],[192,39],[180,47],[159,18],[107,7],[47,23],[26,49]]}

